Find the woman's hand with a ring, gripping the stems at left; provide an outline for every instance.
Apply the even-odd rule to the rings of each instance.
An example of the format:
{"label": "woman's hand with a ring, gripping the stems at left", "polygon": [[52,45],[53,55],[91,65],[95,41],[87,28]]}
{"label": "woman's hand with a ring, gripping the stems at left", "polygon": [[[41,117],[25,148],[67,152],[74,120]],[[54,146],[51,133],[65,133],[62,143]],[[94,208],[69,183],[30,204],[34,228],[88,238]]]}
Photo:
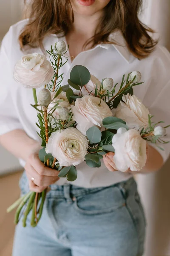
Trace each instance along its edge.
{"label": "woman's hand with a ring, gripping the stems at left", "polygon": [[[59,171],[46,167],[39,159],[38,153],[32,153],[26,161],[26,175],[29,180],[29,188],[34,192],[42,192],[48,186],[59,180]],[[34,181],[32,181],[34,178]]]}

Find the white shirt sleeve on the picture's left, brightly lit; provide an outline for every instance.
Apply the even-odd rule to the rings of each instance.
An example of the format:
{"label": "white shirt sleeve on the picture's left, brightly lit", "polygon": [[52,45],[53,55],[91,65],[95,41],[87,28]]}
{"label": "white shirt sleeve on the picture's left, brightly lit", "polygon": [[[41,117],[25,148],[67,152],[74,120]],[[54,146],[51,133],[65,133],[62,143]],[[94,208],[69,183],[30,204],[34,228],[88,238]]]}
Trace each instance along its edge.
{"label": "white shirt sleeve on the picture's left, brightly lit", "polygon": [[3,38],[0,48],[0,135],[15,129],[23,129],[15,111],[10,90],[13,77],[7,56],[9,32]]}

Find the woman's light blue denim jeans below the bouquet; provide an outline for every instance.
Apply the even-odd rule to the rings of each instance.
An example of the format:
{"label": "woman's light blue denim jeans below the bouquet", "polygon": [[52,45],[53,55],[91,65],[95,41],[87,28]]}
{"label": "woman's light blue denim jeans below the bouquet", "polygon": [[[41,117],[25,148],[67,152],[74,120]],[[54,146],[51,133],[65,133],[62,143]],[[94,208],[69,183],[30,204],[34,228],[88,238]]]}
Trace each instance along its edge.
{"label": "woman's light blue denim jeans below the bouquet", "polygon": [[[25,174],[22,193],[28,192]],[[133,178],[85,189],[52,185],[37,227],[16,227],[13,256],[142,256],[145,218]]]}

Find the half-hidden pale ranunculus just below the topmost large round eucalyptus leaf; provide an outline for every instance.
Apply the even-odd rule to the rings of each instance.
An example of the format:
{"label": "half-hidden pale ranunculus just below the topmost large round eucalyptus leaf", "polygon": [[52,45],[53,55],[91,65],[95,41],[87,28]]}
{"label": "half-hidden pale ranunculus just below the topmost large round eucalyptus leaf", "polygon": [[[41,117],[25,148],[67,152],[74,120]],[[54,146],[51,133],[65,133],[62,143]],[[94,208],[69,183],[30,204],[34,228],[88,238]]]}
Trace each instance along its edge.
{"label": "half-hidden pale ranunculus just below the topmost large round eucalyptus leaf", "polygon": [[[97,89],[99,91],[100,90],[100,86],[101,86],[101,82],[95,76],[91,75],[91,79],[88,82],[88,84],[85,84],[82,87],[81,96],[85,96],[85,95],[92,95],[92,96],[94,96],[96,85],[97,85]],[[72,87],[71,87],[71,89],[73,90],[74,94],[79,95],[79,92],[80,92],[79,90],[76,90],[76,89],[74,89]]]}

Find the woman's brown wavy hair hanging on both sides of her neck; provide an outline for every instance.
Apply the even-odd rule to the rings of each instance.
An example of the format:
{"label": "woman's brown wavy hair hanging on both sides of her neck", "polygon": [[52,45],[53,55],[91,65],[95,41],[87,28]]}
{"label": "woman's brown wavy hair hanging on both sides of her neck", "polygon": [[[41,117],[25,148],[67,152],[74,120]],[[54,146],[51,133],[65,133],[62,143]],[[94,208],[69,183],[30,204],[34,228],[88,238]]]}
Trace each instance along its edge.
{"label": "woman's brown wavy hair hanging on both sides of her neck", "polygon": [[[67,35],[72,28],[74,13],[70,0],[31,0],[27,7],[29,20],[19,37],[21,49],[26,45],[43,49],[42,40],[46,35]],[[89,43],[92,47],[99,43],[117,44],[109,41],[109,35],[119,29],[129,51],[136,58],[146,58],[158,41],[149,35],[154,31],[138,18],[141,7],[142,0],[111,0],[105,7],[95,35],[84,47],[88,47]]]}

